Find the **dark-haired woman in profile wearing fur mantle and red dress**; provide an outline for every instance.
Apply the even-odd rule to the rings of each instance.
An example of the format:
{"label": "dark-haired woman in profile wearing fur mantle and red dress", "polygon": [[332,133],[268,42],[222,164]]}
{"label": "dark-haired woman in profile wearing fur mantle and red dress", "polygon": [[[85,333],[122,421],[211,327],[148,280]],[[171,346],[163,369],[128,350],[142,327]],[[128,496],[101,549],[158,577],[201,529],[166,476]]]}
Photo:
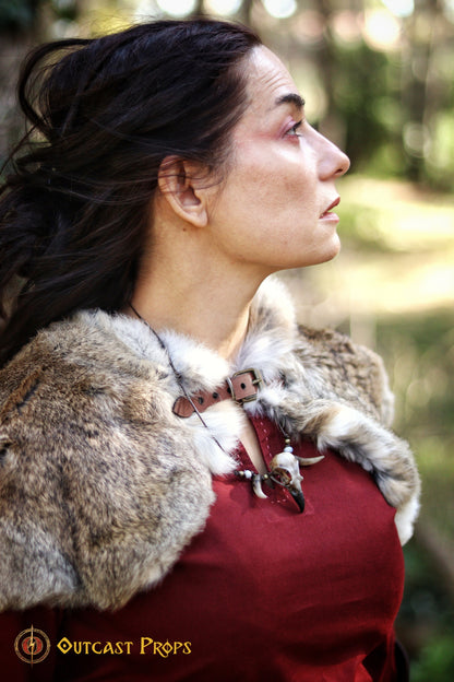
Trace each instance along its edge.
{"label": "dark-haired woman in profile wearing fur mantle and red dress", "polygon": [[404,679],[419,483],[381,362],[264,282],[337,254],[347,157],[224,22],[41,47],[20,93],[39,140],[1,204],[3,670]]}

